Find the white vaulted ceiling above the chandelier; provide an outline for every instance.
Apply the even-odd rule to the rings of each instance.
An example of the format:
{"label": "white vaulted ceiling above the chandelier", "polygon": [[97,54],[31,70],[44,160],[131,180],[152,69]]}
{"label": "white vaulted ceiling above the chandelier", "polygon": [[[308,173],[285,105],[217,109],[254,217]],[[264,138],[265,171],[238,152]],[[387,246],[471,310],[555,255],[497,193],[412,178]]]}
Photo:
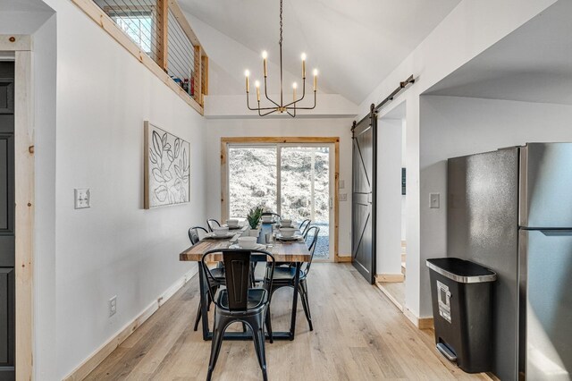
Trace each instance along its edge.
{"label": "white vaulted ceiling above the chandelier", "polygon": [[[252,51],[267,50],[279,63],[279,0],[179,1],[194,18]],[[359,104],[459,2],[284,0],[285,69],[301,72],[299,57],[305,52],[308,72],[317,67],[325,89]],[[224,61],[216,64],[239,80],[245,63],[235,57]],[[229,86],[230,93],[234,89]]]}

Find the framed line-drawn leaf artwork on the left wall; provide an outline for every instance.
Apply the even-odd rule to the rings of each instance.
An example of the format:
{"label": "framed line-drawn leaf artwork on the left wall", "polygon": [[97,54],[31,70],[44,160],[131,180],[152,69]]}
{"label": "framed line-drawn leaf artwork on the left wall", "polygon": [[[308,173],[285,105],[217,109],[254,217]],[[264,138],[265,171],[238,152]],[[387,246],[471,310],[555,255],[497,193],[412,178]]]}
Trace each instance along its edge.
{"label": "framed line-drawn leaf artwork on the left wall", "polygon": [[144,207],[190,201],[190,143],[145,121]]}

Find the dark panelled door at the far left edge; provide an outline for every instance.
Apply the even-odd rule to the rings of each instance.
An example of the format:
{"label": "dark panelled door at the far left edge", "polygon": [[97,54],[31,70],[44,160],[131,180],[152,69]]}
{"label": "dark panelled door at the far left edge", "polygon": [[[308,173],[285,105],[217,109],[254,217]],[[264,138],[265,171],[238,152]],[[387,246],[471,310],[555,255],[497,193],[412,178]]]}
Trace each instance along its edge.
{"label": "dark panelled door at the far left edge", "polygon": [[0,379],[14,378],[14,65],[0,62]]}

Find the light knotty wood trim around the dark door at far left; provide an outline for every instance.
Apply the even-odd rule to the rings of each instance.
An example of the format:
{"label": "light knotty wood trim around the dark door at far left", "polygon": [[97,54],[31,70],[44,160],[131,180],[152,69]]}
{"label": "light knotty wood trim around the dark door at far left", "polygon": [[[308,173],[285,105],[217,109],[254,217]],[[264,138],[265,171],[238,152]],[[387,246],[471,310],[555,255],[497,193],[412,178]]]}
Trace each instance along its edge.
{"label": "light knotty wood trim around the dark door at far left", "polygon": [[31,38],[0,35],[0,50],[14,52],[15,373],[33,379],[34,108]]}

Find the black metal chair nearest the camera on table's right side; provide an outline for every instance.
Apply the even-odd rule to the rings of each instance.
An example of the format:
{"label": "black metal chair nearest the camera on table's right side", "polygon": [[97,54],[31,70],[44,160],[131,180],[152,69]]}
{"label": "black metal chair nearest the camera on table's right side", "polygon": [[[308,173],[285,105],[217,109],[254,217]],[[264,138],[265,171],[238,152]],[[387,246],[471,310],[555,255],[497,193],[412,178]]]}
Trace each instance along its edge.
{"label": "black metal chair nearest the camera on table's right side", "polygon": [[[312,235],[312,241],[308,247],[310,251],[310,260],[307,262],[306,267],[300,268],[299,274],[299,284],[298,292],[300,294],[300,300],[302,301],[302,307],[304,308],[304,314],[306,315],[307,324],[310,326],[310,331],[314,331],[314,326],[312,325],[312,314],[310,313],[310,304],[307,297],[307,275],[310,271],[310,266],[312,266],[312,259],[314,259],[314,252],[316,242],[318,241],[318,234],[320,233],[320,228],[317,226],[311,226],[308,228],[308,232],[314,231]],[[270,299],[272,301],[273,293],[282,287],[294,287],[295,286],[295,276],[296,267],[276,267],[273,281],[269,284],[270,287]],[[266,284],[265,279],[265,286]],[[270,317],[270,306],[268,306],[268,317]]]}

